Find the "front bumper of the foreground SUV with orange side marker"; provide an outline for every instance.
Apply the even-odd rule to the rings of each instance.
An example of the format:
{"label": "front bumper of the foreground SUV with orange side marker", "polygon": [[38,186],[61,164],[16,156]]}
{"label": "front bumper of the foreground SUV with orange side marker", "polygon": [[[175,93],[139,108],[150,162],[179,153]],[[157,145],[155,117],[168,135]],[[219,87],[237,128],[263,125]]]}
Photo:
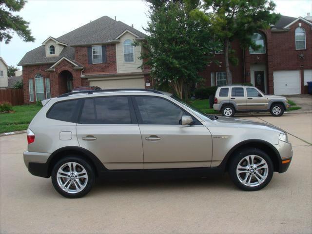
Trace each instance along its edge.
{"label": "front bumper of the foreground SUV with orange side marker", "polygon": [[279,158],[279,173],[286,172],[292,161],[292,144],[279,140],[277,145],[274,145],[278,151]]}

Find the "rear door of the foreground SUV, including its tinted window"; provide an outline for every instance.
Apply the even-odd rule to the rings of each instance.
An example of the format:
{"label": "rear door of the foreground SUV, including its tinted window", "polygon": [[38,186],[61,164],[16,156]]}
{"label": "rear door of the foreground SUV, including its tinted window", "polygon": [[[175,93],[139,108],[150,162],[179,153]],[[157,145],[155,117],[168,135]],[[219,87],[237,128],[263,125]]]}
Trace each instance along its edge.
{"label": "rear door of the foreground SUV, including its tinted window", "polygon": [[107,169],[143,169],[141,133],[130,97],[86,98],[76,129],[80,147]]}

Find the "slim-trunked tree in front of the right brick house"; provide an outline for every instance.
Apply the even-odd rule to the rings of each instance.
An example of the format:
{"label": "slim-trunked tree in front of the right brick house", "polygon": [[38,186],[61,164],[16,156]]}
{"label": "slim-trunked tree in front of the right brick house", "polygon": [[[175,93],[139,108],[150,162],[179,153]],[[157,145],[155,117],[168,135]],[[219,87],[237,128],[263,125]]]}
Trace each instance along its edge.
{"label": "slim-trunked tree in front of the right brick house", "polygon": [[215,37],[224,47],[226,76],[232,84],[230,61],[237,62],[231,42],[238,39],[243,49],[258,49],[252,40],[253,33],[267,29],[279,19],[273,13],[275,4],[272,0],[203,0],[201,10],[195,9],[192,14],[198,18],[211,21]]}

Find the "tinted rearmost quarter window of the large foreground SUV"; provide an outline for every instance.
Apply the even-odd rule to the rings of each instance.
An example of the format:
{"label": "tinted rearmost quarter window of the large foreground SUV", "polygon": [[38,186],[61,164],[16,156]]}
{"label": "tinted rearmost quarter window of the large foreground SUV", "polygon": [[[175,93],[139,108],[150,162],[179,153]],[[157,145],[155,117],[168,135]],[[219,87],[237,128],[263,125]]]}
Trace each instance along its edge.
{"label": "tinted rearmost quarter window of the large foreground SUV", "polygon": [[78,100],[61,101],[53,105],[47,117],[66,122],[76,122]]}

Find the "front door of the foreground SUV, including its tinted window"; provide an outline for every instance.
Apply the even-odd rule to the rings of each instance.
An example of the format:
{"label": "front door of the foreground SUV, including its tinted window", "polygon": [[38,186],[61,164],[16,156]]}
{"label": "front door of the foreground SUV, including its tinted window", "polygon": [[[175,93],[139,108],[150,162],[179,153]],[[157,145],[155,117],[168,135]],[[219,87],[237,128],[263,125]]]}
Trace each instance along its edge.
{"label": "front door of the foreground SUV, including its tinted window", "polygon": [[195,124],[181,125],[190,115],[165,98],[134,98],[142,135],[144,169],[209,167],[212,160],[212,137],[195,117]]}

